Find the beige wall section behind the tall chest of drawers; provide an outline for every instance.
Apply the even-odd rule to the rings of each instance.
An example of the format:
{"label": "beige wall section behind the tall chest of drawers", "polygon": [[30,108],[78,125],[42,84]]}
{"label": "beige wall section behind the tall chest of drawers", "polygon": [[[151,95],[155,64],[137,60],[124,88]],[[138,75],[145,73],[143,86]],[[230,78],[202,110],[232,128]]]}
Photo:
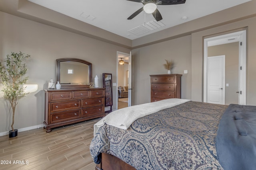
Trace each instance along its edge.
{"label": "beige wall section behind the tall chest of drawers", "polygon": [[151,74],[167,74],[165,59],[174,62],[173,74],[181,77],[181,98],[191,99],[191,36],[184,36],[162,43],[132,50],[133,104],[150,102]]}

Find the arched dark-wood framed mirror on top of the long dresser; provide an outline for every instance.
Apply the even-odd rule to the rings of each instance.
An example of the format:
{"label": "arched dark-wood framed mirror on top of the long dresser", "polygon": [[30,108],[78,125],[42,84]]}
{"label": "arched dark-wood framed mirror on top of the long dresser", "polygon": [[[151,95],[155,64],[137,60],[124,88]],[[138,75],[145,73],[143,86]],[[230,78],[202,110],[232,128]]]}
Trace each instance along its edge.
{"label": "arched dark-wood framed mirror on top of the long dresser", "polygon": [[56,81],[61,88],[89,88],[92,82],[92,63],[75,58],[56,60]]}

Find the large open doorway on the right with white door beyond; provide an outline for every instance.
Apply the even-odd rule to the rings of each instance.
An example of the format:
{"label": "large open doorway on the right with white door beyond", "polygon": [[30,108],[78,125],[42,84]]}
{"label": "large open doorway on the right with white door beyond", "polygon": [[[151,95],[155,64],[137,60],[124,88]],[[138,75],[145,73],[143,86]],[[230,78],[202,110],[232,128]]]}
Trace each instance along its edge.
{"label": "large open doorway on the right with white door beyond", "polygon": [[[210,60],[220,55],[225,55],[224,61]],[[214,62],[224,63],[223,79],[217,75],[221,69],[214,71],[209,68]],[[210,98],[212,94],[214,98]],[[204,39],[204,102],[214,100],[215,103],[223,96],[219,104],[246,105],[246,30]]]}

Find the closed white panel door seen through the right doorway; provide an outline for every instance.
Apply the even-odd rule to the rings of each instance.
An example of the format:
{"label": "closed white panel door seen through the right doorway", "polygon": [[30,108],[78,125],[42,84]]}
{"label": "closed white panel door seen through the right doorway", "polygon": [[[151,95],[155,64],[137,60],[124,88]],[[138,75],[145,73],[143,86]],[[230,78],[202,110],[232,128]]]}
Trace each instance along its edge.
{"label": "closed white panel door seen through the right doorway", "polygon": [[208,57],[207,102],[225,104],[225,55]]}

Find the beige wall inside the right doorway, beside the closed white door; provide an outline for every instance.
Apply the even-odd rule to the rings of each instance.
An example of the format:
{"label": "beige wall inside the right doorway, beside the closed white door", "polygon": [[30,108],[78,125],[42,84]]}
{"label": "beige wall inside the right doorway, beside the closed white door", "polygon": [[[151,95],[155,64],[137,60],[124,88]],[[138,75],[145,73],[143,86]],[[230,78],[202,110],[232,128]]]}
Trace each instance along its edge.
{"label": "beige wall inside the right doorway, beside the closed white door", "polygon": [[238,104],[239,42],[208,47],[208,57],[225,55],[225,104]]}

